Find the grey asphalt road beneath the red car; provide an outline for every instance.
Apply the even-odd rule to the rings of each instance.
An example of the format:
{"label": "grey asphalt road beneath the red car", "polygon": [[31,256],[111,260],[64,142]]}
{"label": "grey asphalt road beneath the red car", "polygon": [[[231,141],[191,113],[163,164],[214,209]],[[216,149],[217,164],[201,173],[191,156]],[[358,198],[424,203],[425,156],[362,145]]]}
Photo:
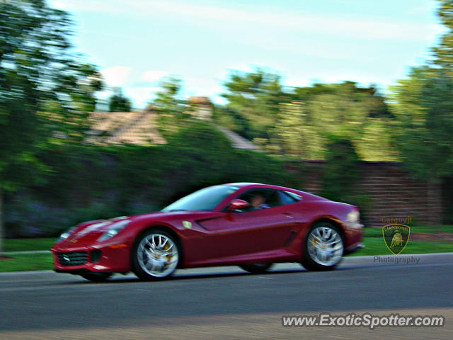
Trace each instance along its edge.
{"label": "grey asphalt road beneath the red car", "polygon": [[[142,282],[90,283],[50,271],[0,274],[0,339],[453,339],[453,253],[418,263],[343,260],[251,275],[236,267],[178,271]],[[395,256],[384,256],[386,259]],[[284,328],[282,315],[332,312],[444,315],[442,328]]]}

